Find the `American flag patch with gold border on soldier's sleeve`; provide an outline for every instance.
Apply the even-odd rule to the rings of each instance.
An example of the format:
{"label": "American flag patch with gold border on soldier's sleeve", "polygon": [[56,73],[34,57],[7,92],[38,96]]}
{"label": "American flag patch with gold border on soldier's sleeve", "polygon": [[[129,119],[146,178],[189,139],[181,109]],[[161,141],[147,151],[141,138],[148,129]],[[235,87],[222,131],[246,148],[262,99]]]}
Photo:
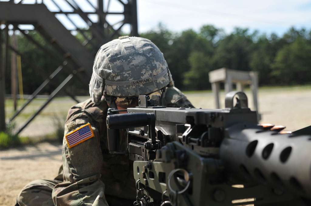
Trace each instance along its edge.
{"label": "American flag patch with gold border on soldier's sleeve", "polygon": [[72,148],[92,137],[94,137],[91,124],[87,123],[82,127],[77,128],[76,130],[68,133],[66,136],[67,145],[69,148]]}

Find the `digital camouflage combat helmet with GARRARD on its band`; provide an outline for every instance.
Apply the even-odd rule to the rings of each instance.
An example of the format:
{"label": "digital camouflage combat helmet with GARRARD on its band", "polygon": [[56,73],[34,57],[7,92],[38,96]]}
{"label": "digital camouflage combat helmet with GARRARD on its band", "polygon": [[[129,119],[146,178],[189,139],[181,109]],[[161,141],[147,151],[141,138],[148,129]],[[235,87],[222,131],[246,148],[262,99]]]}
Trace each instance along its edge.
{"label": "digital camouflage combat helmet with GARRARD on its band", "polygon": [[159,48],[146,38],[123,36],[97,52],[90,95],[96,104],[103,95],[139,96],[167,85],[174,83]]}

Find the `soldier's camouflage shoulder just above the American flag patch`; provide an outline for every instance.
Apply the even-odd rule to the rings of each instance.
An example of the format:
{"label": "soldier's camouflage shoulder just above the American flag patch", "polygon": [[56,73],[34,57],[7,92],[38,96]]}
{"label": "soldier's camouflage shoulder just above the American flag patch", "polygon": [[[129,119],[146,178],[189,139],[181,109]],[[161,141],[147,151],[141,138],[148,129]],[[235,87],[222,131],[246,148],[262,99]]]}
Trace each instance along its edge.
{"label": "soldier's camouflage shoulder just above the American flag patch", "polygon": [[108,105],[106,101],[101,101],[100,104],[95,105],[90,98],[70,108],[65,124],[69,130],[85,123],[95,125],[96,122],[101,122],[105,119],[107,110]]}

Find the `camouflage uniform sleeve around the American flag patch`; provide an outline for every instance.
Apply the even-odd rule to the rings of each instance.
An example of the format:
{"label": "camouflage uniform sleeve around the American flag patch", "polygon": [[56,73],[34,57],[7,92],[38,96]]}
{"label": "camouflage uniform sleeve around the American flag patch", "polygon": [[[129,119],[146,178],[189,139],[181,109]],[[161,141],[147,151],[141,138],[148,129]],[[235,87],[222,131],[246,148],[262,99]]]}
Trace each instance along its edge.
{"label": "camouflage uniform sleeve around the American flag patch", "polygon": [[105,185],[100,180],[103,163],[100,148],[98,125],[83,110],[72,108],[68,112],[65,124],[65,135],[90,123],[94,137],[71,148],[63,139],[63,179],[52,193],[55,205],[108,205],[105,196]]}

